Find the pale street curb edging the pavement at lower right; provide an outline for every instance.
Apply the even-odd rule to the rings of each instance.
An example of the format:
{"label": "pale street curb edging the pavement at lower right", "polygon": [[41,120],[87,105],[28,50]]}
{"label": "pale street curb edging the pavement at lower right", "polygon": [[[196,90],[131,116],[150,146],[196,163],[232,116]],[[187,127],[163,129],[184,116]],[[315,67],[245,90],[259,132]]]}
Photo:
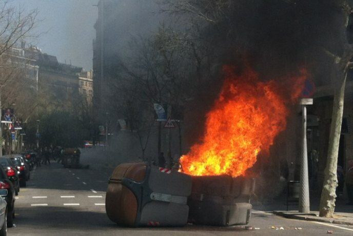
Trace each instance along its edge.
{"label": "pale street curb edging the pavement at lower right", "polygon": [[288,218],[288,219],[295,219],[295,220],[302,220],[302,221],[316,221],[316,222],[323,222],[329,224],[337,224],[337,225],[353,225],[353,219],[349,221],[339,220],[335,218],[322,218],[317,217],[315,214],[295,214],[294,212],[286,212],[286,211],[273,211],[273,214],[279,215],[280,217]]}

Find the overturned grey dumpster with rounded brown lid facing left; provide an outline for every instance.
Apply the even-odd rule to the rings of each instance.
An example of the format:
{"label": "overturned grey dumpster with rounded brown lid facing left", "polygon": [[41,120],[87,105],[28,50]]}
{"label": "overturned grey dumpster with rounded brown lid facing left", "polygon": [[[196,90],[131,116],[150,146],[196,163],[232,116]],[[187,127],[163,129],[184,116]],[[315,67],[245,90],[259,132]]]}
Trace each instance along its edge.
{"label": "overturned grey dumpster with rounded brown lid facing left", "polygon": [[189,175],[147,163],[125,163],[109,179],[106,212],[124,226],[184,226],[190,193]]}

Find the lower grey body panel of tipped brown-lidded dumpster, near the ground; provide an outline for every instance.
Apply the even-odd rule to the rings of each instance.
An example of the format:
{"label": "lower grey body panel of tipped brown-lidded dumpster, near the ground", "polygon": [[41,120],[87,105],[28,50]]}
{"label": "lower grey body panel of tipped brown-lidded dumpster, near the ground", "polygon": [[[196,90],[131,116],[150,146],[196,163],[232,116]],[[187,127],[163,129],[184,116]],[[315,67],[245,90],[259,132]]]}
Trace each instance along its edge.
{"label": "lower grey body panel of tipped brown-lidded dumpster, near the ground", "polygon": [[143,208],[139,225],[158,222],[160,226],[184,226],[187,224],[188,214],[187,205],[153,201]]}

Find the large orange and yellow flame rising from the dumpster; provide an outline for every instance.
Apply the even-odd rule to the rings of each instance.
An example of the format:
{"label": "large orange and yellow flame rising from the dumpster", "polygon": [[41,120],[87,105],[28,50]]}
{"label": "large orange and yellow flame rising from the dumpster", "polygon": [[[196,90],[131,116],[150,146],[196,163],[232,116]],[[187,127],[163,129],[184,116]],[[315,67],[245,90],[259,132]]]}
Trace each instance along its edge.
{"label": "large orange and yellow flame rising from the dumpster", "polygon": [[236,75],[224,67],[226,79],[218,99],[206,116],[201,144],[191,147],[180,159],[183,171],[190,175],[243,175],[257,161],[257,155],[269,152],[274,137],[286,128],[288,105],[298,100],[306,80],[306,71],[289,78],[292,87],[274,80],[262,82],[247,69]]}

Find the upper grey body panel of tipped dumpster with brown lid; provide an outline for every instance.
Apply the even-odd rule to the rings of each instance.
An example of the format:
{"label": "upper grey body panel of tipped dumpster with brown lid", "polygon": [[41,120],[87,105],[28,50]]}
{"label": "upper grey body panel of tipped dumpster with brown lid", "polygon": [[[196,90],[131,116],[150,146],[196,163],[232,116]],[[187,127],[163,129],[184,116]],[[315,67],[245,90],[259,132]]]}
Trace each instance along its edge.
{"label": "upper grey body panel of tipped dumpster with brown lid", "polygon": [[167,174],[159,171],[158,167],[151,167],[148,185],[153,192],[189,196],[192,181],[189,175],[177,171]]}

